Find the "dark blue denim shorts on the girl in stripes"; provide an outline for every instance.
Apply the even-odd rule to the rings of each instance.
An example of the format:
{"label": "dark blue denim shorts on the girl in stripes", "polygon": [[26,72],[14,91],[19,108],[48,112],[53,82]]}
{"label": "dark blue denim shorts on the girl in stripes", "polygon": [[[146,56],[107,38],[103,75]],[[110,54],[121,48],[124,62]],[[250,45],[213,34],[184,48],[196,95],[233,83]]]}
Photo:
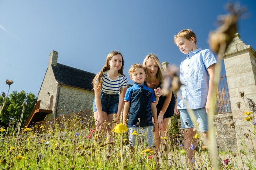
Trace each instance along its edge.
{"label": "dark blue denim shorts on the girl in stripes", "polygon": [[[107,115],[111,113],[117,113],[119,103],[119,94],[107,94],[101,91],[101,107],[102,111]],[[93,100],[93,112],[97,112],[95,105],[95,98]]]}

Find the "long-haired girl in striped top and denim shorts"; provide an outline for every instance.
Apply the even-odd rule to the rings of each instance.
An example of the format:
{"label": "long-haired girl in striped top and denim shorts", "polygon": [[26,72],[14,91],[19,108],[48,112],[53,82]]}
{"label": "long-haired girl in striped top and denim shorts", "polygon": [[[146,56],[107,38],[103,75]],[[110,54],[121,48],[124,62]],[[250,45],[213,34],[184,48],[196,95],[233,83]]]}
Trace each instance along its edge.
{"label": "long-haired girl in striped top and denim shorts", "polygon": [[[124,59],[119,51],[112,51],[106,58],[106,63],[93,79],[94,102],[93,113],[96,130],[109,132],[112,122],[120,122],[120,114],[124,105],[127,90],[127,78],[123,74]],[[120,95],[118,94],[120,93]],[[113,116],[116,114],[116,116]],[[110,123],[106,126],[105,121]],[[108,140],[109,140],[109,133]]]}

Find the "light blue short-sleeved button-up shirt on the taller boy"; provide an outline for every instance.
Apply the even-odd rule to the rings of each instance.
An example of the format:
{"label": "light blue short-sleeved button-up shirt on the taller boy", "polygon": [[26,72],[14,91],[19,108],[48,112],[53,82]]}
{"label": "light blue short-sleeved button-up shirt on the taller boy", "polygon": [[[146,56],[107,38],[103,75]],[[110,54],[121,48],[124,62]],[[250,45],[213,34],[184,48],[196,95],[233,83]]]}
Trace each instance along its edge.
{"label": "light blue short-sleeved button-up shirt on the taller boy", "polygon": [[216,63],[212,52],[201,48],[189,52],[180,64],[180,81],[183,84],[178,92],[178,109],[199,109],[206,105],[209,74],[207,69]]}

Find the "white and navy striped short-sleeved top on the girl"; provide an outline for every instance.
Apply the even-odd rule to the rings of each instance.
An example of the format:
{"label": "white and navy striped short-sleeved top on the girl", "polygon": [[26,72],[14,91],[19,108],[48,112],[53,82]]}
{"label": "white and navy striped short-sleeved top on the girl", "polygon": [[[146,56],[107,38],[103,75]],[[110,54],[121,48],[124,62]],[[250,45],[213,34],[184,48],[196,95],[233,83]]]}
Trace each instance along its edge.
{"label": "white and navy striped short-sleeved top on the girl", "polygon": [[[97,80],[95,79],[95,82]],[[115,80],[112,80],[108,75],[108,70],[103,72],[102,75],[102,86],[101,91],[107,94],[116,94],[119,93],[121,88],[127,87],[128,81],[126,76],[118,73]]]}

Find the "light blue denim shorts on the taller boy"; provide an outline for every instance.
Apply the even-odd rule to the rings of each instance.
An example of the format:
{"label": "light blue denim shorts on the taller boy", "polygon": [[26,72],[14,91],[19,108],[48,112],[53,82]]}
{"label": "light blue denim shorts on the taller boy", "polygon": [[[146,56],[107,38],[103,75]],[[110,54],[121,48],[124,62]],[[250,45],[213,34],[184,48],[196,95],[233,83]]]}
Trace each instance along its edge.
{"label": "light blue denim shorts on the taller boy", "polygon": [[[199,131],[208,132],[208,120],[205,107],[200,109],[193,109],[197,123],[199,123]],[[181,128],[187,129],[193,127],[192,120],[190,119],[186,109],[180,109]]]}

